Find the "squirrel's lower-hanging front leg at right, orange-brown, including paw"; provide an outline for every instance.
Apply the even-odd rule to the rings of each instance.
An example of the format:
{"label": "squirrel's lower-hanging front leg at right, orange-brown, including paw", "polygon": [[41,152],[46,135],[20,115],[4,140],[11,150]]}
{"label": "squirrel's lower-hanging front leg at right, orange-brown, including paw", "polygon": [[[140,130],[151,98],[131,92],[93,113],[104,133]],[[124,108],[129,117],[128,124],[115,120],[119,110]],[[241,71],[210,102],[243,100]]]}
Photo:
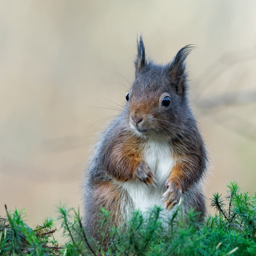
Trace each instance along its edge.
{"label": "squirrel's lower-hanging front leg at right, orange-brown, including paw", "polygon": [[180,201],[182,193],[199,181],[204,172],[204,166],[204,160],[200,155],[188,155],[177,160],[165,182],[167,191],[162,198],[166,199],[165,208],[173,208]]}

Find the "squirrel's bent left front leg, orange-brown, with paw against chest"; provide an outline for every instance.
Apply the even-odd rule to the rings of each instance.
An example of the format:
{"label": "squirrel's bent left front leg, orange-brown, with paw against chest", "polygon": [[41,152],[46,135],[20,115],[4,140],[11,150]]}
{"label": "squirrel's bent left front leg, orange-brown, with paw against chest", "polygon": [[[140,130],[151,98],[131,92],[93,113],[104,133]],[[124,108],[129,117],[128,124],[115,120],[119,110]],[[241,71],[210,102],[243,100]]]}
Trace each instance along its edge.
{"label": "squirrel's bent left front leg, orange-brown, with paw against chest", "polygon": [[155,176],[148,164],[141,159],[138,146],[117,143],[110,149],[106,159],[106,172],[116,180],[125,182],[138,178],[147,185],[154,185]]}

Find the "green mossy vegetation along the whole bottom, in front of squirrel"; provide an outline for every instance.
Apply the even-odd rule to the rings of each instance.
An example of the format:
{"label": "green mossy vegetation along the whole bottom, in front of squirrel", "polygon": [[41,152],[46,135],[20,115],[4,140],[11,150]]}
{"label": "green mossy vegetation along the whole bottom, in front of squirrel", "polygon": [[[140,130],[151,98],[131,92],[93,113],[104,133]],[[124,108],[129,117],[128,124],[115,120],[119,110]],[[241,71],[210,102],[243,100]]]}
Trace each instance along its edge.
{"label": "green mossy vegetation along the whole bottom, in front of squirrel", "polygon": [[[143,215],[135,212],[124,230],[110,230],[107,248],[88,236],[79,211],[66,205],[58,207],[61,229],[68,241],[64,245],[53,238],[56,229],[52,219],[32,229],[22,220],[22,212],[6,209],[7,217],[0,218],[0,255],[255,256],[256,194],[250,196],[232,182],[228,196],[215,193],[211,205],[216,214],[204,223],[198,222],[194,211],[178,220],[179,206],[166,221],[161,218],[164,210],[159,208]],[[109,212],[102,209],[102,215],[105,225]]]}

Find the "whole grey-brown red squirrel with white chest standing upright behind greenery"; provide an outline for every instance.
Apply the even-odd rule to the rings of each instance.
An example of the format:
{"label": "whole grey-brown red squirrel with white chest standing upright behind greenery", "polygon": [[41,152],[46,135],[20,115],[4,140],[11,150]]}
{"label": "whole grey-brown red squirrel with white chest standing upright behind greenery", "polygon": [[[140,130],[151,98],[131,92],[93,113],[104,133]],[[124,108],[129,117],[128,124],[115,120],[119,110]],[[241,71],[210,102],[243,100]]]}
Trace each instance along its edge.
{"label": "whole grey-brown red squirrel with white chest standing upright behind greenery", "polygon": [[187,98],[185,60],[193,47],[181,48],[166,65],[146,59],[142,37],[137,48],[124,110],[102,132],[86,172],[84,224],[92,236],[101,207],[116,226],[132,211],[170,210],[180,198],[183,213],[195,208],[201,220],[206,214],[207,153]]}

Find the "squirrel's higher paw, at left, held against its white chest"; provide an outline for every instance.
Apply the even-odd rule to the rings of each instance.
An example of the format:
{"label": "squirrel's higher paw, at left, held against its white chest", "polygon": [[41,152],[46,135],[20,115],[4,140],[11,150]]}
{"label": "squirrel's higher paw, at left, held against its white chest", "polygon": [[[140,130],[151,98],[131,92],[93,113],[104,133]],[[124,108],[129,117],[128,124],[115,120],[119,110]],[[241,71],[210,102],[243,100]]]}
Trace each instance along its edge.
{"label": "squirrel's higher paw, at left, held against its white chest", "polygon": [[134,176],[140,181],[144,182],[146,185],[152,184],[154,187],[156,187],[154,184],[156,183],[155,176],[146,162],[140,162],[136,171],[134,172]]}

